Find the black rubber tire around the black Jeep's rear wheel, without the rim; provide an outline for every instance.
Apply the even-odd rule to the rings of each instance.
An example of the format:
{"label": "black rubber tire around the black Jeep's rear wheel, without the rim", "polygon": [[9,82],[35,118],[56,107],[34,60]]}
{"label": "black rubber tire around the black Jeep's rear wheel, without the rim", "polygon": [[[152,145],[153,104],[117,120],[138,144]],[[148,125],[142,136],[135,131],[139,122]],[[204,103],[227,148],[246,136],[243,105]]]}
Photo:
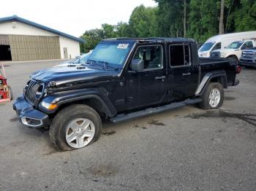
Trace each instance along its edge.
{"label": "black rubber tire around the black Jeep's rear wheel, without the rim", "polygon": [[[209,103],[209,101],[210,101],[209,97],[210,97],[211,91],[214,90],[215,88],[217,88],[220,93],[219,104],[217,104],[217,106],[211,106],[211,104]],[[201,98],[202,98],[202,102],[200,102],[200,104],[199,104],[201,109],[218,109],[219,107],[222,106],[223,101],[224,101],[224,90],[223,90],[222,85],[217,82],[209,83],[208,86],[206,87],[205,92],[201,96]]]}

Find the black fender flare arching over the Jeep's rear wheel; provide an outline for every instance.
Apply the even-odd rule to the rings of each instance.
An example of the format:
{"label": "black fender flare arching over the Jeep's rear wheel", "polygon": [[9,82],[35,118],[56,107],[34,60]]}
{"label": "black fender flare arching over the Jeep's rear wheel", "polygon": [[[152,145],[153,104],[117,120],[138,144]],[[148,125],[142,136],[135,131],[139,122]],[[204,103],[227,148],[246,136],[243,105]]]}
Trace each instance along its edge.
{"label": "black fender flare arching over the Jeep's rear wheel", "polygon": [[225,70],[211,71],[204,75],[202,81],[197,87],[197,90],[195,91],[195,95],[202,95],[208,84],[211,82],[211,79],[214,78],[221,78],[223,87],[227,88],[227,74]]}

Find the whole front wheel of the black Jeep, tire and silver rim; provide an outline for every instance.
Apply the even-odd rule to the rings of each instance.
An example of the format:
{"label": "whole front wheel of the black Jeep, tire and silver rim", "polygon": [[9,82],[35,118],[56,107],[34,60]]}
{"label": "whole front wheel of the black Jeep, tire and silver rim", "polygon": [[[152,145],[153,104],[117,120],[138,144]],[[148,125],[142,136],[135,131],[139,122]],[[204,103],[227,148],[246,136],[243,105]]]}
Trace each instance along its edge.
{"label": "whole front wheel of the black Jeep, tire and silver rim", "polygon": [[89,106],[77,104],[62,109],[50,125],[50,141],[59,151],[80,149],[97,141],[102,122]]}

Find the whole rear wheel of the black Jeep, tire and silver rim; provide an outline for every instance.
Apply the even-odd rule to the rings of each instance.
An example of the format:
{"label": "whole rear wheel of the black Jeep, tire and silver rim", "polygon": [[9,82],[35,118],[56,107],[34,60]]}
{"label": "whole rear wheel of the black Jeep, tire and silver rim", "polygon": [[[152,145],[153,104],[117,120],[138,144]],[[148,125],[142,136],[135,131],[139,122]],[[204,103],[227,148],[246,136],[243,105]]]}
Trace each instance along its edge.
{"label": "whole rear wheel of the black Jeep, tire and silver rim", "polygon": [[209,83],[202,95],[202,102],[199,104],[201,109],[218,109],[224,100],[224,90],[220,83]]}

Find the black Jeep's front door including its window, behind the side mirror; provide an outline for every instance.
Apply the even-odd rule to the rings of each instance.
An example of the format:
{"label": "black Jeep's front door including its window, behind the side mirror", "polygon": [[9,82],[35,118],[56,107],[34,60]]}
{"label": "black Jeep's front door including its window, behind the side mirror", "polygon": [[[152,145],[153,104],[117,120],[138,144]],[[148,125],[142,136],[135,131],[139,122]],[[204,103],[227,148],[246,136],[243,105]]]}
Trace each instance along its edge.
{"label": "black Jeep's front door including its window, behind the side mirror", "polygon": [[127,109],[161,103],[166,92],[164,44],[138,46],[133,59],[144,61],[143,71],[127,71]]}

